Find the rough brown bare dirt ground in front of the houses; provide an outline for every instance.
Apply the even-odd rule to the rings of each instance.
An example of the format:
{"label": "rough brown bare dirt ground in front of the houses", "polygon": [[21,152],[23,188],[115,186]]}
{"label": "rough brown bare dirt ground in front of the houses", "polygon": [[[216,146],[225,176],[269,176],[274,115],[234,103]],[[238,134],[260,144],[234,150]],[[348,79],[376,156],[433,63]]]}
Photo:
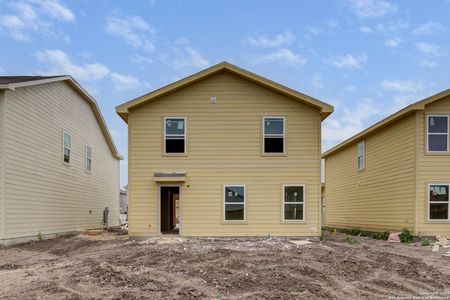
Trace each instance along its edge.
{"label": "rough brown bare dirt ground in front of the houses", "polygon": [[[107,233],[0,248],[1,299],[387,299],[450,296],[449,248],[328,235],[150,239]],[[447,293],[447,294],[445,294]]]}

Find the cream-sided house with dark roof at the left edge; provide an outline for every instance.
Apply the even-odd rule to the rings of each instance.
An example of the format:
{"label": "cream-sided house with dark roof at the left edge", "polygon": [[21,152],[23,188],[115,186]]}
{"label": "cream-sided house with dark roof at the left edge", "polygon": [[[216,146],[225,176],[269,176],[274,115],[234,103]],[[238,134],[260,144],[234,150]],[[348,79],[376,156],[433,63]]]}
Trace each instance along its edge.
{"label": "cream-sided house with dark roof at the left edge", "polygon": [[0,76],[0,244],[118,225],[119,160],[70,76]]}

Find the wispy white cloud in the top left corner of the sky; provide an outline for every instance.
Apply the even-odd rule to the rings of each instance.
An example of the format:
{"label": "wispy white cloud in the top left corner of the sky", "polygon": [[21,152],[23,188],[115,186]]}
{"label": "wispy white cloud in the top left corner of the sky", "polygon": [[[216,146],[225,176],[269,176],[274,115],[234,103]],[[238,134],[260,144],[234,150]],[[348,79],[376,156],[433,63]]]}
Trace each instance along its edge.
{"label": "wispy white cloud in the top left corner of the sky", "polygon": [[50,17],[62,21],[75,21],[72,11],[58,1],[18,1],[12,2],[9,8],[8,13],[0,14],[0,29],[15,40],[28,42],[35,34],[69,40],[67,36],[55,29],[48,19]]}

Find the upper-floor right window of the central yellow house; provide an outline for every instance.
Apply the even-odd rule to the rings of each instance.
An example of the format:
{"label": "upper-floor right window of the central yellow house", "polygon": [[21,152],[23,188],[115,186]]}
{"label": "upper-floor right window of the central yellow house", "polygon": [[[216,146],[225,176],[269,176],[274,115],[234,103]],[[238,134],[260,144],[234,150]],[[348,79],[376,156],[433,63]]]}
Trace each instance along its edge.
{"label": "upper-floor right window of the central yellow house", "polygon": [[264,153],[284,153],[284,117],[264,117]]}

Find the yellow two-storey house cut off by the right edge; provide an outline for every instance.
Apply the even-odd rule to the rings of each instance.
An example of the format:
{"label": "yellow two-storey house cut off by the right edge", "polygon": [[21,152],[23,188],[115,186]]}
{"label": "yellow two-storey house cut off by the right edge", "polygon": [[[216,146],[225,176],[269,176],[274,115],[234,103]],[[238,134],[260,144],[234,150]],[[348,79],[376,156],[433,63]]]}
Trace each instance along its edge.
{"label": "yellow two-storey house cut off by the right edge", "polygon": [[325,152],[327,226],[450,236],[450,90]]}

